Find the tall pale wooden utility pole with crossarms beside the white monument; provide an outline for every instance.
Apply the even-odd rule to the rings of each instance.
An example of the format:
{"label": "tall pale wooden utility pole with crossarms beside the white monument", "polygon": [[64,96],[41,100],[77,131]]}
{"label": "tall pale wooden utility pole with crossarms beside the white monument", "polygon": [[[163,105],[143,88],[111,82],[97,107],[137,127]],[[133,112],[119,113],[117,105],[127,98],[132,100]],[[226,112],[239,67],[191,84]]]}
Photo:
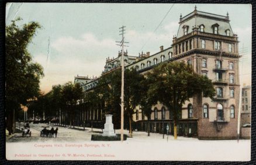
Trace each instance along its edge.
{"label": "tall pale wooden utility pole with crossarms beside the white monument", "polygon": [[122,84],[121,84],[121,141],[123,142],[123,112],[124,112],[124,101],[123,101],[123,96],[124,96],[124,50],[123,50],[123,47],[126,46],[124,45],[124,43],[128,43],[128,42],[124,42],[124,27],[125,26],[122,26],[120,27],[119,29],[119,32],[121,32],[121,34],[119,35],[122,35],[122,41],[116,41],[118,42],[119,44],[116,44],[116,45],[119,45],[121,46],[122,48],[122,58],[121,58],[121,65],[122,65]]}

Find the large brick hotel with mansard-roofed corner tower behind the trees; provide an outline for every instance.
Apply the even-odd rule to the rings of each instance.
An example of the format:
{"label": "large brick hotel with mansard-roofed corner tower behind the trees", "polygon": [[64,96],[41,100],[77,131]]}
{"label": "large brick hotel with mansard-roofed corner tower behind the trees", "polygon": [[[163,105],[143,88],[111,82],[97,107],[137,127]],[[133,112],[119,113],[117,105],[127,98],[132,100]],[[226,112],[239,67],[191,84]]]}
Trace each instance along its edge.
{"label": "large brick hotel with mansard-roofed corner tower behind the trees", "polygon": [[[177,25],[178,26],[178,25]],[[105,70],[108,74],[120,67],[121,53],[117,58],[106,59]],[[191,64],[193,70],[212,80],[216,89],[214,99],[194,96],[182,107],[178,123],[178,135],[199,139],[232,139],[237,137],[238,102],[240,83],[238,75],[238,37],[230,26],[229,14],[226,16],[193,12],[179,18],[177,35],[172,38],[169,48],[160,46],[160,51],[130,56],[124,52],[125,67],[136,68],[145,74],[162,62],[184,61]],[[85,91],[96,87],[97,78],[75,77],[75,83],[81,83]],[[96,106],[95,106],[96,107]],[[152,107],[151,120],[141,112],[138,105],[134,109],[134,130],[151,132],[166,130],[173,133],[171,111],[161,103]],[[102,120],[102,110],[88,108],[81,112],[81,121],[91,123]]]}

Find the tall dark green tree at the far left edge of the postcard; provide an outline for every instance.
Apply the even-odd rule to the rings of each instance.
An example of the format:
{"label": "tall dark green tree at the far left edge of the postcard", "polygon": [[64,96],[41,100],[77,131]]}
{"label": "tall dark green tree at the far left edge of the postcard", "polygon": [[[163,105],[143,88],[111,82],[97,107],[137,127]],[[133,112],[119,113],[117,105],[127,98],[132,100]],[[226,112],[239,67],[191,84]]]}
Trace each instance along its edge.
{"label": "tall dark green tree at the far left edge of the postcard", "polygon": [[27,46],[32,42],[40,24],[30,22],[22,27],[13,20],[5,28],[5,91],[6,91],[6,127],[13,133],[15,110],[26,105],[29,99],[39,96],[40,78],[44,76],[43,67],[32,62]]}

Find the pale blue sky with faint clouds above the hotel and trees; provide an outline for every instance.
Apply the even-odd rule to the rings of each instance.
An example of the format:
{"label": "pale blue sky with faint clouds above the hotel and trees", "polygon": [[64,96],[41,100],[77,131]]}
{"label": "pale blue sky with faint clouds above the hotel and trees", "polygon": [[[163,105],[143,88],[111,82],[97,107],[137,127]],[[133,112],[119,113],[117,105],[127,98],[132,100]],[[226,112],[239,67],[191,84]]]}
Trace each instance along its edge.
{"label": "pale blue sky with faint clouds above the hotel and trees", "polygon": [[[74,82],[74,77],[99,77],[106,58],[116,58],[120,46],[119,27],[126,26],[128,54],[168,48],[177,35],[180,15],[199,11],[226,16],[238,35],[240,84],[251,85],[251,5],[184,3],[7,3],[6,25],[18,17],[19,24],[37,21],[29,52],[44,68],[40,88],[49,92],[53,85]],[[159,26],[158,26],[159,25]]]}

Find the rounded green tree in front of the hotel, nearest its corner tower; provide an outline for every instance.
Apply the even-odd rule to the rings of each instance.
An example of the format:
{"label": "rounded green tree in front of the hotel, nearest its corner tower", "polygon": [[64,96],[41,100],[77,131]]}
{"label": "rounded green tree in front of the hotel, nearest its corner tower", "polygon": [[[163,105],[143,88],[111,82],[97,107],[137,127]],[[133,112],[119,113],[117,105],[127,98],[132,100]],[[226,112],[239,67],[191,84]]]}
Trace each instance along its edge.
{"label": "rounded green tree in front of the hotel, nearest its corner tower", "polygon": [[177,139],[177,123],[182,105],[193,95],[215,96],[212,81],[196,74],[191,65],[184,62],[162,63],[147,74],[150,80],[148,95],[157,98],[174,114],[174,138]]}

